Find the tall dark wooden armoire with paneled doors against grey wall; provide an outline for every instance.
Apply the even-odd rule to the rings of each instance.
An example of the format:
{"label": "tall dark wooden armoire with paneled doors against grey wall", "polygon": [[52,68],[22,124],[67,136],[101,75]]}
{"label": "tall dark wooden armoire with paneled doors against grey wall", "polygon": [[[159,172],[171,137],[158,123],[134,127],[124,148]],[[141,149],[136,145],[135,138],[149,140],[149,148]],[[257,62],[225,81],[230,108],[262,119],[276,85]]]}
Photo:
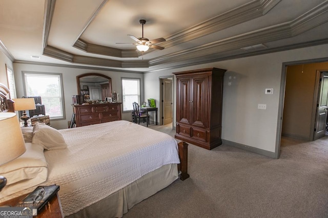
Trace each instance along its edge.
{"label": "tall dark wooden armoire with paneled doors against grey wall", "polygon": [[211,150],[222,143],[222,92],[226,69],[174,72],[177,79],[175,138]]}

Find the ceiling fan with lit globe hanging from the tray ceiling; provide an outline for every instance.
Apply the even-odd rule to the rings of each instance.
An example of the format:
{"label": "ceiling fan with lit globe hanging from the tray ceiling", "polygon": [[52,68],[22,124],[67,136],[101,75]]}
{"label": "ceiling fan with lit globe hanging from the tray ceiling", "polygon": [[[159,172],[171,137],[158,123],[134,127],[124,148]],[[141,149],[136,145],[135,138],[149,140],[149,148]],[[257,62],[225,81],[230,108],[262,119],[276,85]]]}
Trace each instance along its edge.
{"label": "ceiling fan with lit globe hanging from the tray ceiling", "polygon": [[146,20],[139,20],[140,24],[142,25],[142,37],[137,38],[132,35],[128,35],[131,37],[131,39],[135,40],[137,43],[125,43],[125,42],[117,42],[116,44],[135,44],[137,45],[137,50],[140,52],[146,52],[150,47],[153,49],[158,49],[158,50],[163,50],[165,49],[162,46],[154,45],[154,43],[158,42],[165,42],[165,38],[158,38],[158,39],[153,39],[149,40],[147,38],[144,38],[144,24],[146,23]]}

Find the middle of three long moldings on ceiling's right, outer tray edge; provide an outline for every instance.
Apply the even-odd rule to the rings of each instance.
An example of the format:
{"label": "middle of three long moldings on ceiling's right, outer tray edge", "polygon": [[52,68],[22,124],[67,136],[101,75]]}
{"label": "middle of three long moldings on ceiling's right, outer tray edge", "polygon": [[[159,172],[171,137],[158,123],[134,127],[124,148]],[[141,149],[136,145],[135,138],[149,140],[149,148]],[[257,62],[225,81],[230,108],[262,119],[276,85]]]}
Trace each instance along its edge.
{"label": "middle of three long moldings on ceiling's right, outer tray edge", "polygon": [[218,40],[208,44],[194,47],[193,49],[176,52],[166,56],[161,56],[149,61],[150,66],[177,62],[200,56],[217,54],[220,52],[240,49],[259,43],[277,41],[290,38],[328,21],[328,4],[320,4],[302,16],[290,21],[274,25],[269,28],[255,30],[249,33],[240,34],[230,38]]}

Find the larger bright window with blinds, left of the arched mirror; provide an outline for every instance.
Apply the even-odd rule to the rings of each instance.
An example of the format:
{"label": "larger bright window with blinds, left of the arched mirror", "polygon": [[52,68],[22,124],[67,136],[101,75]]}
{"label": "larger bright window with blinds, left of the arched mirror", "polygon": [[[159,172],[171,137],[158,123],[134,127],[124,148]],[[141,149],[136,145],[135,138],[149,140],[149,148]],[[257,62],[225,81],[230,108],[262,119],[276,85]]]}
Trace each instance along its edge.
{"label": "larger bright window with blinds, left of the arched mirror", "polygon": [[65,118],[61,74],[23,72],[27,96],[41,96],[50,119]]}

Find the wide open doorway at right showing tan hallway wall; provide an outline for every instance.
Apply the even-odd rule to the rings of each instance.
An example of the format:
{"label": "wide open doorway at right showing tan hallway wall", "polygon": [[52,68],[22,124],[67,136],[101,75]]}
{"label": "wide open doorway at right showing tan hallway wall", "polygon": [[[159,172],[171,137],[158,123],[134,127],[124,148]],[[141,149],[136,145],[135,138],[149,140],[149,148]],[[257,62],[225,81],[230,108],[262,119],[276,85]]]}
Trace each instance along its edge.
{"label": "wide open doorway at right showing tan hallway wall", "polygon": [[282,137],[300,141],[313,141],[316,139],[315,131],[318,124],[318,119],[316,121],[316,118],[319,117],[317,115],[317,104],[321,90],[320,77],[322,77],[321,73],[327,71],[327,69],[328,62],[326,60],[309,60],[283,64],[276,158],[279,158]]}

